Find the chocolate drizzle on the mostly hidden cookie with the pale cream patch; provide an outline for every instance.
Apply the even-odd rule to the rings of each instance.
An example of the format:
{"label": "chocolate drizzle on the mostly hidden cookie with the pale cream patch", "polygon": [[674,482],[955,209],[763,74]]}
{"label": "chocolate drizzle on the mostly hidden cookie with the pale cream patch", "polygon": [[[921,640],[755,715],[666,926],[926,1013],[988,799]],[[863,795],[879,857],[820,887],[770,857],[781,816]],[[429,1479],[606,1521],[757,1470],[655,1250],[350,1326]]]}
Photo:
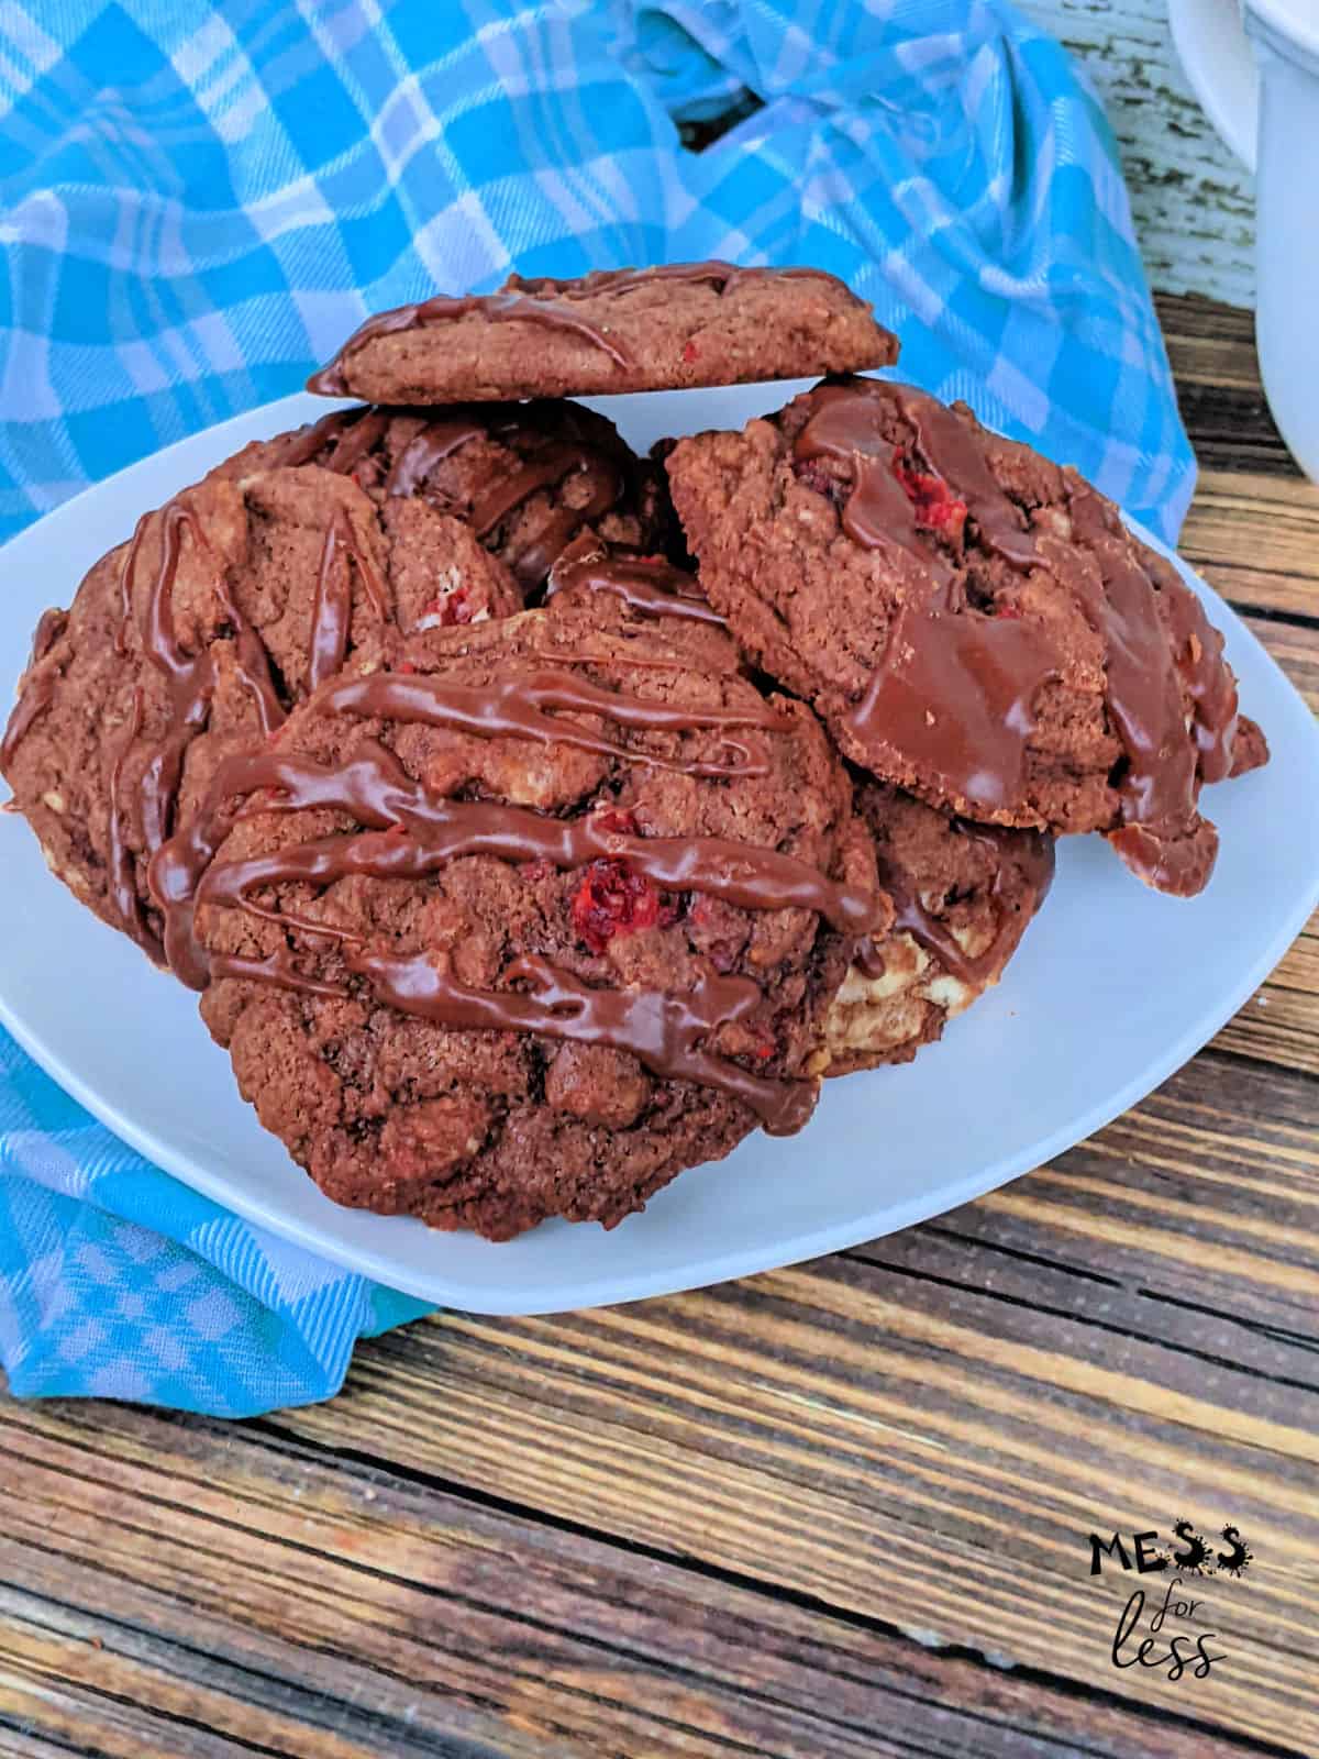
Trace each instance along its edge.
{"label": "chocolate drizzle on the mostly hidden cookie with the pale cream patch", "polygon": [[[1031,897],[1031,913],[1039,909],[1053,883],[1053,839],[1039,830],[1004,830],[995,825],[973,825],[967,820],[953,820],[953,828],[983,844],[994,862],[994,881],[990,887],[990,904],[994,906],[997,927],[988,946],[980,953],[967,953],[951,929],[925,908],[911,872],[895,862],[876,844],[876,862],[879,885],[893,901],[893,927],[890,934],[909,934],[930,959],[964,983],[980,990],[994,978],[1002,962],[1004,941],[1017,929],[1017,916],[1009,909],[1009,899],[1017,892]],[[855,962],[867,978],[879,978],[885,973],[883,941],[864,941],[856,948]]]}

